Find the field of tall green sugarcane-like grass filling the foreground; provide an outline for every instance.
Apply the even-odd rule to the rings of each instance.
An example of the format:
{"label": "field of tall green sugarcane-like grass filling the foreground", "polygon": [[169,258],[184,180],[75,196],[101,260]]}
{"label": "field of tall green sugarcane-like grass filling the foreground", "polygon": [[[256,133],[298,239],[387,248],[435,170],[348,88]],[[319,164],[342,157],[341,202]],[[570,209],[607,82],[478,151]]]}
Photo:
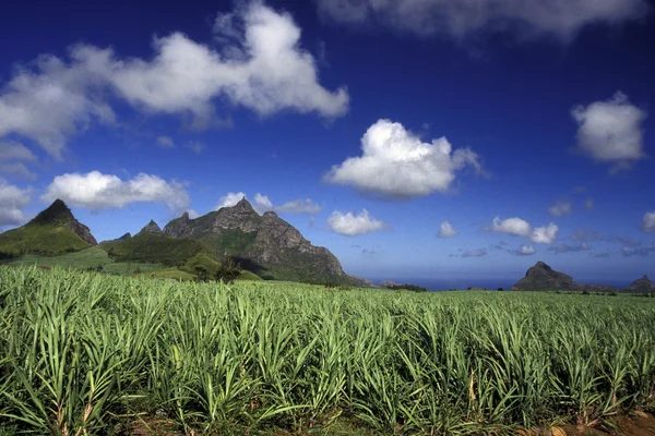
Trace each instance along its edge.
{"label": "field of tall green sugarcane-like grass filling the foreground", "polygon": [[[655,302],[0,268],[0,423],[480,434],[653,405]],[[277,433],[276,433],[277,432]]]}

